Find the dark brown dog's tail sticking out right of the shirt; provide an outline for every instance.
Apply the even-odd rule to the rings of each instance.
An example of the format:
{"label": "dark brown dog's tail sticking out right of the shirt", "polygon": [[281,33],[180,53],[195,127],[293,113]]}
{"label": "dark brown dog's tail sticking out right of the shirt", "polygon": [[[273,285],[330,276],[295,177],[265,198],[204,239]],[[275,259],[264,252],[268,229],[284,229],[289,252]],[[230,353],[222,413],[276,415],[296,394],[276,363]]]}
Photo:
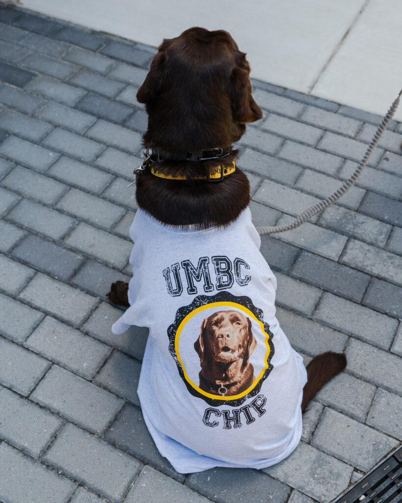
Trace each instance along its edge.
{"label": "dark brown dog's tail sticking out right of the shirt", "polygon": [[344,353],[327,351],[318,355],[306,367],[307,383],[303,389],[302,410],[312,400],[320,389],[346,367]]}

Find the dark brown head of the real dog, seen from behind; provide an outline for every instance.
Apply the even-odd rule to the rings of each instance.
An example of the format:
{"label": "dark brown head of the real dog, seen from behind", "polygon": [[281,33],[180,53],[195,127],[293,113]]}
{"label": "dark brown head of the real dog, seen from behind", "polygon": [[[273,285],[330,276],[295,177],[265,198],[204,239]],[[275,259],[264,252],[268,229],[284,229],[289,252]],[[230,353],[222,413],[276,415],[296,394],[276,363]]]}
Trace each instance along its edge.
{"label": "dark brown head of the real dog, seen from behind", "polygon": [[262,117],[250,65],[224,30],[190,28],[164,40],[137,93],[149,115],[145,146],[170,152],[226,147]]}

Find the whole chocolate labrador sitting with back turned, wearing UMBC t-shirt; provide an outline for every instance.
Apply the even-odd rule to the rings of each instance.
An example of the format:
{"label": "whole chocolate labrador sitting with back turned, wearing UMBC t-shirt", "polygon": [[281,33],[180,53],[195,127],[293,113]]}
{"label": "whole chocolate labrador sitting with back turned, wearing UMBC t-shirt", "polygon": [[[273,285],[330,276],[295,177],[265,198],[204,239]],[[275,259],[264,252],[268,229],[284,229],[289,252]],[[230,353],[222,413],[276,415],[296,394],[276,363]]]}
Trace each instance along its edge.
{"label": "whole chocolate labrador sitting with back turned, wearing UMBC t-shirt", "polygon": [[[130,307],[112,330],[151,327],[138,394],[159,450],[183,473],[279,462],[299,441],[300,408],[346,366],[344,354],[318,355],[306,383],[303,360],[275,318],[275,280],[259,253],[249,182],[233,148],[262,117],[249,73],[228,32],[191,28],[163,41],[137,93],[148,113],[147,157],[136,177],[130,291],[116,282],[108,294]],[[180,346],[183,323],[205,304],[223,307],[203,321],[195,344]],[[250,318],[232,306],[261,328],[253,334]],[[256,339],[266,353],[255,350]],[[254,350],[253,358],[269,354],[258,379]],[[199,386],[189,377],[198,372]],[[236,441],[225,433],[243,425]]]}

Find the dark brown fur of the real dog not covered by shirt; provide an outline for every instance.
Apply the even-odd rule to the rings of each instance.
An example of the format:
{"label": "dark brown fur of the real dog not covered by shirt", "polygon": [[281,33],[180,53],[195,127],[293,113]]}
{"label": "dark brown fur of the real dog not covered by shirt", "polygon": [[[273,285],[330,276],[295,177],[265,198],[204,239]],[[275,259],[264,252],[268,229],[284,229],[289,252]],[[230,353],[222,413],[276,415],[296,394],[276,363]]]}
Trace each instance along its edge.
{"label": "dark brown fur of the real dog not covered by shirt", "polygon": [[[190,28],[164,40],[137,93],[148,113],[144,146],[170,159],[215,147],[230,150],[245,132],[245,124],[262,117],[251,96],[249,73],[245,53],[226,31]],[[232,175],[215,183],[190,178],[207,175],[212,166],[230,165],[236,156],[235,150],[220,160],[154,164],[165,174],[187,179],[165,180],[149,173],[137,177],[139,207],[169,226],[229,225],[250,202],[244,173],[236,167]],[[114,283],[108,296],[113,303],[129,305],[126,283]],[[310,362],[302,409],[345,365],[345,355],[332,352]]]}

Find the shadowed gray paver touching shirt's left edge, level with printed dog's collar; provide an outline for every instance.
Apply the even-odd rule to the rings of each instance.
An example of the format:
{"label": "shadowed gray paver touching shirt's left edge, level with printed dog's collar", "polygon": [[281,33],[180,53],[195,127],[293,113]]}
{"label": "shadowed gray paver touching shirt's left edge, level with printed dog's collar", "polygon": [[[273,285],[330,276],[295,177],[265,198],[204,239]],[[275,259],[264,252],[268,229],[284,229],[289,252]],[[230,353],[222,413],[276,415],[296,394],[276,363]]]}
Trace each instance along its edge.
{"label": "shadowed gray paver touching shirt's left edge, level with printed dog's collar", "polygon": [[140,371],[138,360],[115,350],[93,382],[140,406],[137,395]]}

